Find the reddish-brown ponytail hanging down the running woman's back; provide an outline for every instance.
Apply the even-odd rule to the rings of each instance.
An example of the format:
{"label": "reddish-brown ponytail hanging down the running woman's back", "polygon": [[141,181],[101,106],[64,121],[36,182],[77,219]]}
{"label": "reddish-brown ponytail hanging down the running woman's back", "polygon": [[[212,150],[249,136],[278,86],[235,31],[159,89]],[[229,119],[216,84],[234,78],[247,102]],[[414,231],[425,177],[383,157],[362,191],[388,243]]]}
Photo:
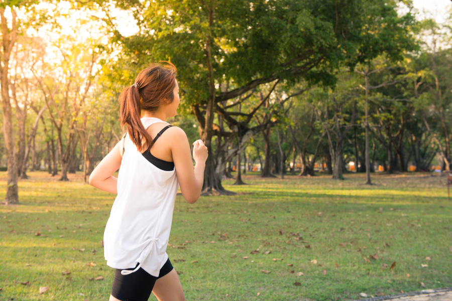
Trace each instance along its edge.
{"label": "reddish-brown ponytail hanging down the running woman's back", "polygon": [[139,152],[142,150],[142,139],[145,139],[147,149],[152,144],[151,135],[144,128],[141,122],[141,106],[140,106],[140,93],[138,87],[132,85],[124,89],[119,97],[120,101],[120,113],[121,113],[121,127],[127,124],[127,132],[132,142],[137,146]]}

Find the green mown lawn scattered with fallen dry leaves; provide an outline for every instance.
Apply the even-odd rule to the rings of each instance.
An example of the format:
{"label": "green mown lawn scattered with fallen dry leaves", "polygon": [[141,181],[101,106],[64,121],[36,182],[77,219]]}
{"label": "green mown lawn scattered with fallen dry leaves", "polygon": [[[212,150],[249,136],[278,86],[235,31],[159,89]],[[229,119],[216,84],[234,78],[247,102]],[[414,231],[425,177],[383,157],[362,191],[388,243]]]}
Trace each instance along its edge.
{"label": "green mown lawn scattered with fallen dry leaves", "polygon": [[[0,300],[107,300],[114,270],[101,240],[115,196],[79,174],[29,176],[21,204],[0,206]],[[186,299],[350,300],[451,286],[445,177],[377,174],[369,187],[345,176],[247,174],[250,185],[223,182],[232,197],[178,196],[167,253]],[[4,199],[5,172],[0,187]]]}

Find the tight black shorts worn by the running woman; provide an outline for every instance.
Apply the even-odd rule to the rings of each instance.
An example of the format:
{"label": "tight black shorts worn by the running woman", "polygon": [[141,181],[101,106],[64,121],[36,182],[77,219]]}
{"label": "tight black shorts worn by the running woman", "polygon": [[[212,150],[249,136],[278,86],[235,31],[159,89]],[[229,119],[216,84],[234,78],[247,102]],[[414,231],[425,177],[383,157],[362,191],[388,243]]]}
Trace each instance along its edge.
{"label": "tight black shorts worn by the running woman", "polygon": [[[134,268],[127,270],[134,270]],[[160,269],[158,277],[149,274],[141,267],[129,275],[122,275],[122,269],[116,269],[111,295],[121,301],[147,301],[154,288],[155,281],[172,270],[173,265],[169,258]]]}

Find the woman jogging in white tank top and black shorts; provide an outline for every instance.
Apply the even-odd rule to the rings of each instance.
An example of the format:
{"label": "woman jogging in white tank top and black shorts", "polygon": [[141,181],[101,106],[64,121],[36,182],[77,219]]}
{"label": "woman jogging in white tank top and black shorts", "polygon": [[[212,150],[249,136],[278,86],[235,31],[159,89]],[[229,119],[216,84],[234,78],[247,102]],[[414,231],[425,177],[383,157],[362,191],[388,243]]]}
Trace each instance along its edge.
{"label": "woman jogging in white tank top and black shorts", "polygon": [[193,143],[193,169],[185,132],[164,121],[176,115],[178,93],[171,63],[141,71],[119,98],[127,132],[89,177],[118,194],[104,233],[107,265],[116,268],[110,301],[145,301],[151,292],[160,301],[185,300],[166,247],[179,185],[188,203],[199,198],[207,147]]}

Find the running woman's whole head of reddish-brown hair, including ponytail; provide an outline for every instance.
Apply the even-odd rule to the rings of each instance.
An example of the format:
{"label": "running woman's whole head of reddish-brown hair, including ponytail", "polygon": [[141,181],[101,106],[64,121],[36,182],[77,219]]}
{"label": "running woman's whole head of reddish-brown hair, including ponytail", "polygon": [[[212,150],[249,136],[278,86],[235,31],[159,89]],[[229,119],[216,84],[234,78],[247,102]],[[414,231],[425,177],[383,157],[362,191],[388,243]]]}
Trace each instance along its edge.
{"label": "running woman's whole head of reddish-brown hair, including ponytail", "polygon": [[171,103],[175,80],[176,67],[173,64],[166,61],[154,63],[143,69],[135,79],[135,84],[125,88],[119,97],[121,127],[127,124],[129,137],[140,152],[143,138],[147,149],[153,144],[151,135],[140,120],[141,110],[155,111],[163,103]]}

